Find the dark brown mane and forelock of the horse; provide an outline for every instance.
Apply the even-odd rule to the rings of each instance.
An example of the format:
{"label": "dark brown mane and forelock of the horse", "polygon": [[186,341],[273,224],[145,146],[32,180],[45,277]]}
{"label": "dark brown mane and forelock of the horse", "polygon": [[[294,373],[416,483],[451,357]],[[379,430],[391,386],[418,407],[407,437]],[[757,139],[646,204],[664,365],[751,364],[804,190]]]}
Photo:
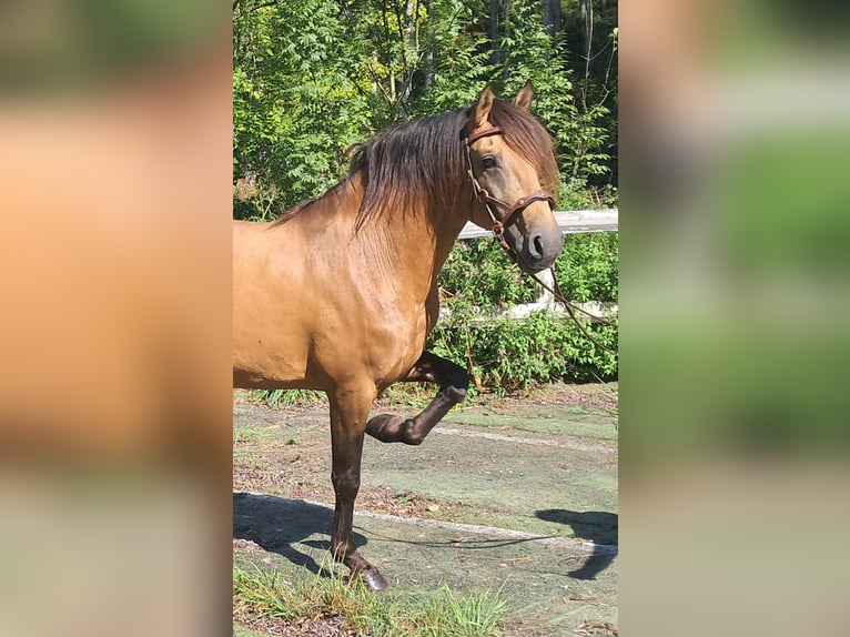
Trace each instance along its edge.
{"label": "dark brown mane and forelock of the horse", "polygon": [[[463,152],[468,109],[396,124],[360,144],[346,179],[322,199],[360,175],[364,188],[355,231],[385,214],[416,214],[429,208],[447,212],[457,200],[466,179]],[[557,192],[558,168],[552,139],[528,112],[496,100],[490,123],[500,127],[506,143],[537,171],[540,183]],[[275,225],[285,223],[316,200],[297,204]]]}

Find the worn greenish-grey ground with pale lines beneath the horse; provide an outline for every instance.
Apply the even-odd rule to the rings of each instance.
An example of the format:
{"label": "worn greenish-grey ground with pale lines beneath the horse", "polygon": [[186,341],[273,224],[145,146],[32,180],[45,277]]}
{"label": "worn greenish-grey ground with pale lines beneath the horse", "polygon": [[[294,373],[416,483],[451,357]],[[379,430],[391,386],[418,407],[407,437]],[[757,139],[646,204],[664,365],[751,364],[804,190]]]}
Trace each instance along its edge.
{"label": "worn greenish-grey ground with pale lines beneath the horse", "polygon": [[[616,635],[617,401],[616,384],[547,386],[455,408],[418,447],[367,438],[361,553],[394,588],[503,587],[507,635]],[[384,398],[373,413],[422,406]],[[326,405],[236,395],[233,471],[234,556],[317,573],[334,502]]]}

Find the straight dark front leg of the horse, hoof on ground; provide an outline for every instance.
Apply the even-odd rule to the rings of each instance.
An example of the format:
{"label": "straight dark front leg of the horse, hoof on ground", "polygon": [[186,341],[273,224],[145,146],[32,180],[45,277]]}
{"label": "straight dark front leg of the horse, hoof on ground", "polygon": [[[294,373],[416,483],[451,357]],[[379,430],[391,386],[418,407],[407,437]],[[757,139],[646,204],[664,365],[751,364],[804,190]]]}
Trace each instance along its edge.
{"label": "straight dark front leg of the horse, hoof on ground", "polygon": [[352,542],[354,501],[360,491],[363,432],[375,392],[342,392],[330,396],[331,447],[333,468],[331,481],[336,494],[331,552],[336,562],[351,569],[352,579],[362,577],[372,590],[386,588],[386,580],[364,559]]}

